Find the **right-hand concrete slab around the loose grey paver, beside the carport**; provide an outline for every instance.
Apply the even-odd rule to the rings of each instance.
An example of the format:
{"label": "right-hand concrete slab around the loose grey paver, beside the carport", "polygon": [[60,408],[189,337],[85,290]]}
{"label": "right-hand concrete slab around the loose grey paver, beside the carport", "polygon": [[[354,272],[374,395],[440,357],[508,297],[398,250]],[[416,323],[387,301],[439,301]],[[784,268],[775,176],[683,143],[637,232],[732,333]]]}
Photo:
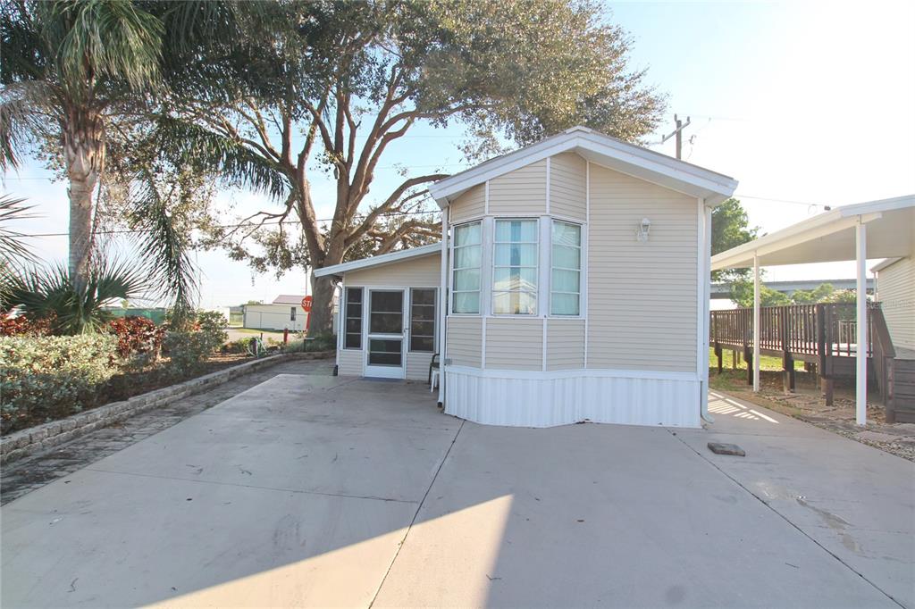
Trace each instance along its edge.
{"label": "right-hand concrete slab around the loose grey paver, beside the carport", "polygon": [[[915,606],[915,464],[720,393],[709,407],[715,424],[678,433],[684,443],[862,578]],[[768,420],[740,416],[750,409]],[[738,443],[747,456],[712,454],[710,440]]]}

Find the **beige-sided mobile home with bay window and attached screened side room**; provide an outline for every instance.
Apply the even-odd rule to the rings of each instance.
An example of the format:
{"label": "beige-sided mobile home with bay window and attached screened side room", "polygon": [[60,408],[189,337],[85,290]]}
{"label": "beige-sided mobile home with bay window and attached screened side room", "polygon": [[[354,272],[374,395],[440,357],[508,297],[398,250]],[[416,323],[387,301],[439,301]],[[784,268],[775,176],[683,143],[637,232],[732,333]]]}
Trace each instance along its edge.
{"label": "beige-sided mobile home with bay window and attached screened side room", "polygon": [[736,187],[584,127],[440,180],[442,243],[316,271],[342,282],[339,374],[425,380],[437,352],[471,421],[696,427],[711,210]]}

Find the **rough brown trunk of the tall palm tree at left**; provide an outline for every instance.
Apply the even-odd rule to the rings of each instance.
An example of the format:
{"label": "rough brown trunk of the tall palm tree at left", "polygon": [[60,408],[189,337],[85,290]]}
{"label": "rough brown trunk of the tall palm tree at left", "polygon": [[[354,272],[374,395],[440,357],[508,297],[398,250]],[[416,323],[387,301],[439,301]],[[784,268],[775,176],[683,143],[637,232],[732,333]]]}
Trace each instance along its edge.
{"label": "rough brown trunk of the tall palm tree at left", "polygon": [[95,187],[104,164],[102,118],[98,112],[74,109],[61,125],[63,153],[70,178],[70,278],[81,289],[89,276],[93,246]]}

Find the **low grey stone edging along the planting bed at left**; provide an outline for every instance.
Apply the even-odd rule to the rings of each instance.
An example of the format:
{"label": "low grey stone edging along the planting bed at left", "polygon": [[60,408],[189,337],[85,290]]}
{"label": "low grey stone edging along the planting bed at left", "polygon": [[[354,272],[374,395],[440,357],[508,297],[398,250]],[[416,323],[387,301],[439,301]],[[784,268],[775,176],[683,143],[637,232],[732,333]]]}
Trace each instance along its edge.
{"label": "low grey stone edging along the planting bed at left", "polygon": [[274,364],[290,359],[323,359],[329,357],[333,357],[333,351],[283,353],[269,358],[255,359],[227,369],[210,372],[210,374],[186,380],[176,385],[141,393],[128,400],[114,401],[89,411],[79,412],[66,419],[47,422],[10,433],[0,439],[0,465],[6,465],[17,459],[69,442],[101,427],[107,427],[113,423],[129,419],[135,414],[209,390],[231,379],[251,374]]}

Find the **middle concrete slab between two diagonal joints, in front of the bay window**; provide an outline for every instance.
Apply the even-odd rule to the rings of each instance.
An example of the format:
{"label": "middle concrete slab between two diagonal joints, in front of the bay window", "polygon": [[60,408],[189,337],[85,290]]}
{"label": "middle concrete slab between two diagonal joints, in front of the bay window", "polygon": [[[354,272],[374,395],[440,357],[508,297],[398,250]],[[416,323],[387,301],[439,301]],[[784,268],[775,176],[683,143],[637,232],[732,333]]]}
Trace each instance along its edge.
{"label": "middle concrete slab between two diagonal joints, in front of the bay window", "polygon": [[470,423],[375,605],[897,606],[668,430]]}

